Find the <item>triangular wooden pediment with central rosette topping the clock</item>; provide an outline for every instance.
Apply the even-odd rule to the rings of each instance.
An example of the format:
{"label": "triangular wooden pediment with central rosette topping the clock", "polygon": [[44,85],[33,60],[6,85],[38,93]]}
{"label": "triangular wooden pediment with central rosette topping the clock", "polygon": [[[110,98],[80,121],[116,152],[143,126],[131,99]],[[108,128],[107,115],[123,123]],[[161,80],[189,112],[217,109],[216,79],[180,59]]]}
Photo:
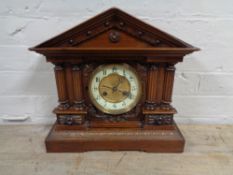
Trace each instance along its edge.
{"label": "triangular wooden pediment with central rosette topping the clock", "polygon": [[[44,55],[61,52],[85,54],[88,53],[88,49],[93,54],[108,52],[108,50],[116,53],[122,50],[133,53],[137,49],[141,54],[152,55],[166,52],[185,55],[198,50],[117,8],[111,8],[30,48]],[[144,49],[146,52],[143,51]]]}

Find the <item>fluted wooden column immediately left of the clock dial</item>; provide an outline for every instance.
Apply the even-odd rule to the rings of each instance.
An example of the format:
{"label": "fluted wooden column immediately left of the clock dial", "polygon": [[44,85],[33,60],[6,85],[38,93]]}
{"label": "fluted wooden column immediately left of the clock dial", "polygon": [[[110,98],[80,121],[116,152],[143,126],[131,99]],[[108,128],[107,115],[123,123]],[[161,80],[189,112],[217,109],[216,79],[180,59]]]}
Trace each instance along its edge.
{"label": "fluted wooden column immediately left of the clock dial", "polygon": [[73,91],[74,91],[74,109],[82,110],[84,105],[83,95],[83,81],[82,81],[82,69],[80,65],[75,65],[72,68],[73,74]]}

